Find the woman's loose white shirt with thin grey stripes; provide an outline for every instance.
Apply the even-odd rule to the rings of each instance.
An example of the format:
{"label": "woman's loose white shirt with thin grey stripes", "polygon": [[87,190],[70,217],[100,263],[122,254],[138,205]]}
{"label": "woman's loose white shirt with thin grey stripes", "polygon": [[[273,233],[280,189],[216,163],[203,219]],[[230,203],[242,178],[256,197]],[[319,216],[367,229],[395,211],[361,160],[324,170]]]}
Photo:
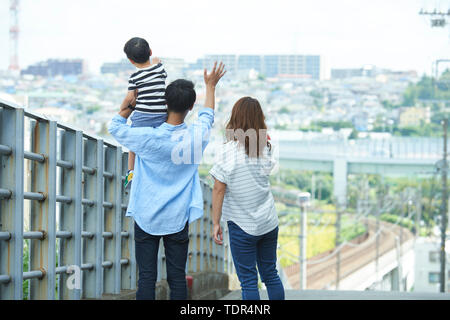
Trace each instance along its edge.
{"label": "woman's loose white shirt with thin grey stripes", "polygon": [[278,226],[269,174],[275,165],[270,152],[249,158],[237,141],[223,145],[210,174],[227,185],[222,219],[233,221],[253,236],[266,234]]}

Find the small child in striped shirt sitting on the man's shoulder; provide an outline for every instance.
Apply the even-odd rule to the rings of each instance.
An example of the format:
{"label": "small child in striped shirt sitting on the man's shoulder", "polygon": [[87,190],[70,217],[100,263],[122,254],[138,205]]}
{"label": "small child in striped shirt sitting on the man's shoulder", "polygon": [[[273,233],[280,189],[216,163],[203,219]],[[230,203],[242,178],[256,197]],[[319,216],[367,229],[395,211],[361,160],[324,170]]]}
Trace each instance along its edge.
{"label": "small child in striped shirt sitting on the man's shoulder", "polygon": [[[164,96],[167,73],[158,58],[150,61],[152,50],[145,39],[128,40],[123,51],[137,69],[128,79],[128,94],[125,97],[129,108],[134,110],[131,127],[159,127],[167,119]],[[135,154],[130,150],[125,188],[133,179],[134,159]]]}

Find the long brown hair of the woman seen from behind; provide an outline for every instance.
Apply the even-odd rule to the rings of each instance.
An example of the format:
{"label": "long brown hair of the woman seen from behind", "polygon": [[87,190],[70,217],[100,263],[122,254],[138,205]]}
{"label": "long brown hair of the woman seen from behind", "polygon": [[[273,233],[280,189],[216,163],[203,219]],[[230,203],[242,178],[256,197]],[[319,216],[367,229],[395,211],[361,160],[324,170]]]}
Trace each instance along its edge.
{"label": "long brown hair of the woman seen from behind", "polygon": [[264,113],[258,100],[243,97],[234,104],[226,125],[226,139],[245,145],[245,153],[253,158],[260,157],[265,147],[271,149]]}

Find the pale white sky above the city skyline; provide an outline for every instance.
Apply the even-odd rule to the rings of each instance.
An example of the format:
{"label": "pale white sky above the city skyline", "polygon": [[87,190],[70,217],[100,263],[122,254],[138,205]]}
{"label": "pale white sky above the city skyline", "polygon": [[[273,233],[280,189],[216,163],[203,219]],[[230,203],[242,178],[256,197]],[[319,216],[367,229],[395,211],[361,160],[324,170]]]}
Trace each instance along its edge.
{"label": "pale white sky above the city skyline", "polygon": [[[155,56],[318,54],[330,68],[365,64],[430,73],[450,58],[450,28],[421,8],[438,0],[20,0],[19,64],[82,58],[91,72],[125,58],[134,36]],[[0,70],[9,64],[9,0],[0,0]]]}

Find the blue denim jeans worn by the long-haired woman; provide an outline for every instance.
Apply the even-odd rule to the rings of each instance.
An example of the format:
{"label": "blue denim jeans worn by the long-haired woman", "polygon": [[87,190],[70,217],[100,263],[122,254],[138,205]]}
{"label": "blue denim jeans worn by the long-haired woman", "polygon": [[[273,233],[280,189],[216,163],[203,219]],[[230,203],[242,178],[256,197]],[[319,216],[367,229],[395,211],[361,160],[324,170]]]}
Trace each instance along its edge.
{"label": "blue denim jeans worn by the long-haired woman", "polygon": [[252,236],[228,221],[228,231],[231,255],[241,282],[242,300],[260,299],[256,265],[269,299],[284,300],[284,287],[276,268],[278,227],[264,235]]}

